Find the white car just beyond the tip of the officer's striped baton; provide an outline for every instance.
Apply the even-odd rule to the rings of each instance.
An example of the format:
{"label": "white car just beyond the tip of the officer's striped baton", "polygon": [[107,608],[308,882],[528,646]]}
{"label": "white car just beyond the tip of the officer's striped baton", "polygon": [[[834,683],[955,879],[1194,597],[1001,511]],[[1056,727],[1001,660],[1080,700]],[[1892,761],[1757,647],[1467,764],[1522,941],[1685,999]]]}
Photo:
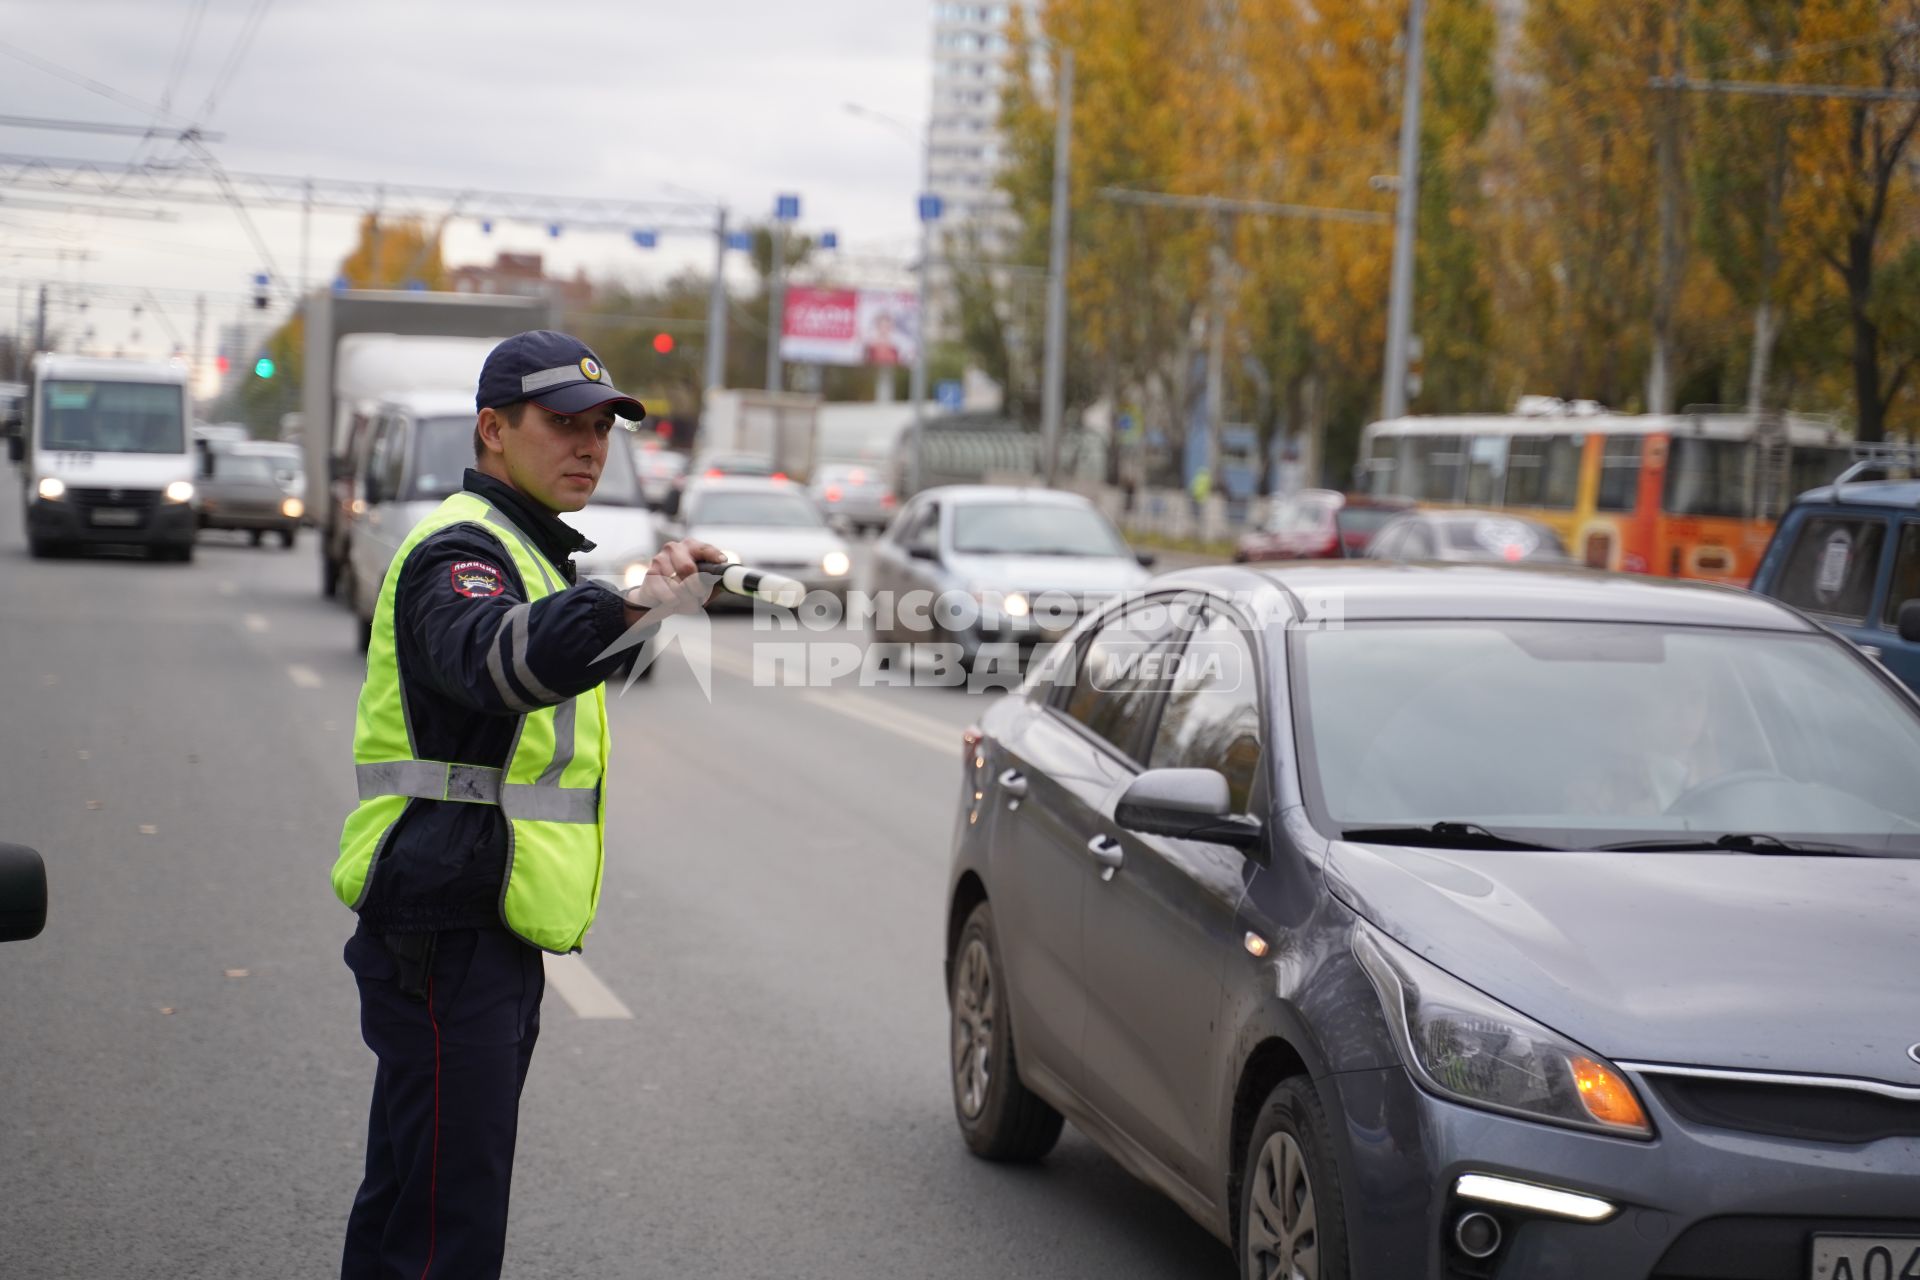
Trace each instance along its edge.
{"label": "white car just beyond the tip of the officer's striped baton", "polygon": [[[852,557],[806,489],[749,476],[695,480],[680,505],[684,537],[712,543],[749,568],[795,578],[847,599]],[[722,597],[714,597],[716,603]]]}

